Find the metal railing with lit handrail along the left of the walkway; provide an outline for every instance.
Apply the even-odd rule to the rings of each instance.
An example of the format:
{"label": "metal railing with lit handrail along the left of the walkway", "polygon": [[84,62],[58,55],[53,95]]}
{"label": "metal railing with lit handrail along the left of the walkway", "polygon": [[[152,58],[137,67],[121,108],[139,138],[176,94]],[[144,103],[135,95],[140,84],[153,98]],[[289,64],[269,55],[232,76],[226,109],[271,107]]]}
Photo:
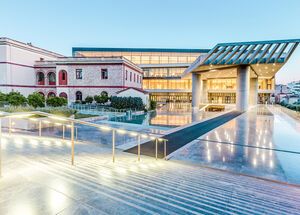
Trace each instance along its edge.
{"label": "metal railing with lit handrail along the left of the walkway", "polygon": [[[32,116],[41,116],[40,118],[33,118]],[[100,130],[105,130],[105,131],[111,131],[112,132],[112,161],[115,162],[116,160],[116,153],[115,153],[115,148],[116,148],[116,133],[121,133],[121,134],[130,134],[132,136],[137,137],[137,155],[138,155],[138,161],[140,161],[141,157],[141,139],[146,138],[150,140],[155,140],[155,159],[158,159],[158,143],[163,142],[164,144],[164,159],[166,159],[166,144],[167,144],[167,139],[161,138],[157,136],[156,134],[149,134],[149,133],[140,133],[140,132],[135,132],[135,131],[129,131],[129,130],[124,130],[124,129],[119,129],[119,128],[113,128],[105,125],[99,125],[91,122],[86,122],[86,121],[81,121],[73,118],[68,118],[68,117],[62,117],[62,116],[57,116],[41,111],[32,111],[32,112],[18,112],[18,113],[7,113],[7,112],[0,112],[0,141],[2,137],[2,119],[8,119],[8,134],[12,135],[13,131],[13,123],[12,119],[17,118],[17,119],[28,119],[30,121],[38,123],[38,136],[42,137],[42,123],[48,124],[51,123],[49,120],[53,120],[55,125],[62,126],[62,139],[66,139],[65,137],[65,130],[66,128],[70,128],[70,141],[71,141],[71,164],[74,165],[74,152],[75,152],[75,139],[77,139],[77,127],[75,124],[81,124],[81,125],[86,125],[94,128],[98,128]],[[0,142],[1,146],[1,142]],[[0,148],[1,150],[1,148]],[[1,176],[1,157],[0,157],[0,176]]]}

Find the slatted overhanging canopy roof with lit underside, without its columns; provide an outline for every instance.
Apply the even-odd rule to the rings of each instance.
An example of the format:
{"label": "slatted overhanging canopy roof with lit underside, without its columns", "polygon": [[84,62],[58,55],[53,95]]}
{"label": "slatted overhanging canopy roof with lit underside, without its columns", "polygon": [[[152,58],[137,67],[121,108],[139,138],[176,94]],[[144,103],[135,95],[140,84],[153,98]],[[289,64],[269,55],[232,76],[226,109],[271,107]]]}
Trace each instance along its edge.
{"label": "slatted overhanging canopy roof with lit underside, without its columns", "polygon": [[207,55],[198,57],[185,71],[185,75],[190,72],[209,72],[238,65],[251,65],[258,76],[262,70],[274,75],[287,62],[299,42],[300,39],[220,43]]}

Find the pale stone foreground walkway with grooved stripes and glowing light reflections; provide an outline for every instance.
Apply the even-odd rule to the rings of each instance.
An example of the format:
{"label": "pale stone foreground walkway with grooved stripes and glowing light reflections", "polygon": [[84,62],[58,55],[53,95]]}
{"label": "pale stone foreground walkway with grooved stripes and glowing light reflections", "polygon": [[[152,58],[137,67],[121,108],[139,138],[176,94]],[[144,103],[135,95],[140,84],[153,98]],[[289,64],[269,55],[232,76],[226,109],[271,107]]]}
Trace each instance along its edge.
{"label": "pale stone foreground walkway with grooved stripes and glowing light reflections", "polygon": [[300,187],[94,143],[3,137],[0,214],[300,214]]}

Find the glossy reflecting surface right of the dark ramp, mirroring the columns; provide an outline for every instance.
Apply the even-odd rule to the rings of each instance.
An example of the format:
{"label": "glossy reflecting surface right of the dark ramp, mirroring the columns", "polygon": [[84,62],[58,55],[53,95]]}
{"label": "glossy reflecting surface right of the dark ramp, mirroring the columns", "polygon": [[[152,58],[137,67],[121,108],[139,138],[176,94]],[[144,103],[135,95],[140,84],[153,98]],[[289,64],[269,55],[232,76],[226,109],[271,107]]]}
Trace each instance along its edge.
{"label": "glossy reflecting surface right of the dark ramp, mirroring the columns", "polygon": [[300,184],[300,122],[259,106],[199,137],[172,159]]}

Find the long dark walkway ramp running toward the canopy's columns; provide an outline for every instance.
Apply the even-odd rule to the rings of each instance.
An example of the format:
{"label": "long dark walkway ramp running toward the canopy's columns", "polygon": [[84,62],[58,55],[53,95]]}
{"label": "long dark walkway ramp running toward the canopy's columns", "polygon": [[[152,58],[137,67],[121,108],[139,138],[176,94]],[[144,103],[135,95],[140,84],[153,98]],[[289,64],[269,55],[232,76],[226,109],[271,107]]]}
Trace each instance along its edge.
{"label": "long dark walkway ramp running toward the canopy's columns", "polygon": [[[214,128],[234,119],[239,116],[242,112],[231,111],[229,113],[223,114],[221,116],[217,116],[215,118],[206,120],[204,122],[199,122],[190,127],[183,128],[181,130],[177,130],[173,133],[167,134],[162,138],[167,139],[166,146],[166,155],[171,154],[172,152],[180,149],[185,146],[189,142],[197,139],[203,134],[213,130]],[[137,154],[137,146],[134,146],[130,149],[125,150],[125,152]],[[151,157],[155,157],[155,140],[151,140],[141,144],[141,154],[147,155]],[[158,158],[164,157],[164,144],[158,144]]]}

